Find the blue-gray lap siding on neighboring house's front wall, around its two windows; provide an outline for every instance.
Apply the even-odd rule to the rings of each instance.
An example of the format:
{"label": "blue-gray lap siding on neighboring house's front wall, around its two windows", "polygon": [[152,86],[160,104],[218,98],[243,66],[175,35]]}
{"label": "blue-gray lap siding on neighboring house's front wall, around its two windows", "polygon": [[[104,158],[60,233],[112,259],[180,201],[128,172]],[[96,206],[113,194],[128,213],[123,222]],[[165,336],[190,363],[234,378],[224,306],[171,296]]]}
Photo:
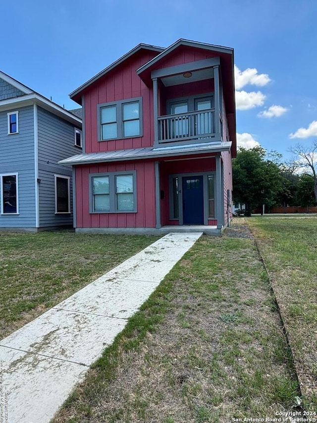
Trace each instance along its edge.
{"label": "blue-gray lap siding on neighboring house's front wall, around its two windows", "polygon": [[0,215],[0,228],[30,228],[36,225],[33,106],[11,111],[19,112],[19,133],[8,135],[8,111],[0,112],[0,174],[18,174],[19,214]]}

